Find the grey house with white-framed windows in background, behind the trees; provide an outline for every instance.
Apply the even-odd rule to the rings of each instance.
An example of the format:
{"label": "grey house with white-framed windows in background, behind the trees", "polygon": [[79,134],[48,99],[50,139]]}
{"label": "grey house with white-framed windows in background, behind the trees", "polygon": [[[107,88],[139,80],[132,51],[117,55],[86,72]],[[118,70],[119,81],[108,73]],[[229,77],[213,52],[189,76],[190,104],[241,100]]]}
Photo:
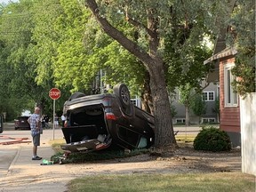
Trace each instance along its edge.
{"label": "grey house with white-framed windows in background, behind the trees", "polygon": [[[204,83],[203,83],[204,84]],[[172,99],[172,106],[175,108],[176,115],[172,116],[173,124],[185,124],[185,106],[180,103],[180,92],[176,90],[177,94]],[[219,123],[219,115],[216,112],[216,101],[219,99],[219,85],[210,83],[204,88],[202,92],[202,100],[206,104],[206,113],[199,117],[196,116],[192,110],[189,110],[190,124],[214,124]],[[200,119],[199,119],[200,118]]]}

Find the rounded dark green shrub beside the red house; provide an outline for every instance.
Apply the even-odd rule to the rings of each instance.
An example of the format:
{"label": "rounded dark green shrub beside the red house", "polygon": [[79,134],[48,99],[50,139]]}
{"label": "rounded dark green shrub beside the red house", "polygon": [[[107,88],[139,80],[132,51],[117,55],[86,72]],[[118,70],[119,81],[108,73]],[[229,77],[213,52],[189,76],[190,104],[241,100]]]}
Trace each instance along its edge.
{"label": "rounded dark green shrub beside the red house", "polygon": [[231,149],[231,141],[227,132],[213,126],[203,128],[197,134],[193,145],[196,150],[228,151]]}

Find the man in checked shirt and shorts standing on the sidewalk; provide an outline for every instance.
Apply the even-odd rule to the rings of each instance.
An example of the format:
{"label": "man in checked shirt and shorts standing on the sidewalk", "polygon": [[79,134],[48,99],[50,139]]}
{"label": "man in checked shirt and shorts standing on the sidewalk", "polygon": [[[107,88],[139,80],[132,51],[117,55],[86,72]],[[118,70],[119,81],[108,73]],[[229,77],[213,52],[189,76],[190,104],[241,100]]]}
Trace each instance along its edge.
{"label": "man in checked shirt and shorts standing on the sidewalk", "polygon": [[42,157],[37,156],[37,146],[40,146],[40,108],[35,108],[34,114],[28,118],[28,123],[30,124],[31,136],[33,138],[33,156],[32,160],[41,160]]}

